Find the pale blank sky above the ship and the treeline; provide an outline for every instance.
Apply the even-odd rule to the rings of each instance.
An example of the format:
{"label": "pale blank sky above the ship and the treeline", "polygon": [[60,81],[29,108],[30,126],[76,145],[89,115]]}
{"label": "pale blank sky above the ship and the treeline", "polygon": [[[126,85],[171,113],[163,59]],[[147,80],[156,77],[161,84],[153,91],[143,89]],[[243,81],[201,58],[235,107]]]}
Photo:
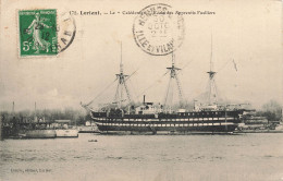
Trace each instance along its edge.
{"label": "pale blank sky above the ship and the treeline", "polygon": [[[0,109],[15,110],[75,108],[103,90],[94,104],[113,100],[115,85],[104,90],[119,73],[133,74],[128,86],[135,101],[146,95],[161,102],[171,56],[151,56],[133,37],[136,15],[75,15],[76,35],[72,45],[56,57],[19,56],[19,9],[63,11],[140,11],[160,1],[1,1],[0,21]],[[175,50],[184,97],[194,99],[205,92],[211,57],[221,96],[260,108],[271,99],[282,104],[282,2],[275,0],[162,1],[177,11],[211,11],[214,15],[183,15],[185,36]],[[236,67],[236,69],[235,69]],[[151,86],[155,85],[155,86]],[[149,88],[150,87],[150,88]]]}

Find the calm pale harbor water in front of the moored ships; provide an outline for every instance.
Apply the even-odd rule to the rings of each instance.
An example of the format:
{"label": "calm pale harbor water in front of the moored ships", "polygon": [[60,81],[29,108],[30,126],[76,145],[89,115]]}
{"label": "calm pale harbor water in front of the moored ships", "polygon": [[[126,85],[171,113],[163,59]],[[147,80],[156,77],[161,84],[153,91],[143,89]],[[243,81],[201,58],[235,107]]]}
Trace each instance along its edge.
{"label": "calm pale harbor water in front of the moored ships", "polygon": [[0,144],[3,181],[283,180],[281,133],[79,134],[78,138],[5,140]]}

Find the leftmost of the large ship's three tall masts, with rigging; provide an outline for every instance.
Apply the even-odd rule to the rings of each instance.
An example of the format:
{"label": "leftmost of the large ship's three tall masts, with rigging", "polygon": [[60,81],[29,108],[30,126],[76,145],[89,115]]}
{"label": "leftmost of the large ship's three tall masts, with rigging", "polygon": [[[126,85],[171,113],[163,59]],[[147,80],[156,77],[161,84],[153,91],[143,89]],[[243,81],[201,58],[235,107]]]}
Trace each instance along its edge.
{"label": "leftmost of the large ship's three tall masts, with rigging", "polygon": [[122,60],[123,59],[122,59],[122,43],[121,43],[120,73],[116,74],[118,86],[116,86],[116,92],[115,92],[115,96],[114,96],[114,102],[118,104],[120,108],[122,107],[122,101],[124,101],[124,89],[126,92],[126,96],[127,96],[128,101],[130,102],[132,101],[131,95],[130,95],[130,92],[128,92],[128,87],[127,87],[127,84],[126,84],[126,80],[125,80],[128,75],[124,74]]}

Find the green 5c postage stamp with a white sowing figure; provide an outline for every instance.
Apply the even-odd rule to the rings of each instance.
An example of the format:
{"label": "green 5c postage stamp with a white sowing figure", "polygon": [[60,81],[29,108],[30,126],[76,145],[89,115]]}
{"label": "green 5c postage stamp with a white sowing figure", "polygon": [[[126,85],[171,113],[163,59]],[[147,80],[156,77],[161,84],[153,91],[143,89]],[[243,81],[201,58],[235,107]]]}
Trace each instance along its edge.
{"label": "green 5c postage stamp with a white sowing figure", "polygon": [[58,53],[57,10],[19,11],[20,56]]}

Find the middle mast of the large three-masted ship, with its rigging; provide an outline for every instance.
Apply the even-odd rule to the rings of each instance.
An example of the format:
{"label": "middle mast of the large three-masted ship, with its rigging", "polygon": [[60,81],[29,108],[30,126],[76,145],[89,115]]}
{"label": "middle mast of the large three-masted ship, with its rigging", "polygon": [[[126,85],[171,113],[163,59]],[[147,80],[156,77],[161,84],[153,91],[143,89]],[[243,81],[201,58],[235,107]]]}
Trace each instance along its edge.
{"label": "middle mast of the large three-masted ship, with its rigging", "polygon": [[170,80],[169,80],[169,85],[168,85],[168,89],[167,89],[167,96],[165,96],[165,100],[164,100],[164,106],[167,105],[171,105],[172,102],[168,102],[169,100],[169,93],[171,90],[171,101],[173,100],[173,81],[175,81],[176,85],[177,85],[177,93],[179,93],[179,101],[180,105],[182,105],[183,102],[183,92],[182,92],[182,86],[181,86],[181,82],[179,80],[177,76],[177,71],[180,71],[180,68],[175,67],[175,56],[172,52],[172,67],[171,68],[167,68],[168,70],[170,70]]}

